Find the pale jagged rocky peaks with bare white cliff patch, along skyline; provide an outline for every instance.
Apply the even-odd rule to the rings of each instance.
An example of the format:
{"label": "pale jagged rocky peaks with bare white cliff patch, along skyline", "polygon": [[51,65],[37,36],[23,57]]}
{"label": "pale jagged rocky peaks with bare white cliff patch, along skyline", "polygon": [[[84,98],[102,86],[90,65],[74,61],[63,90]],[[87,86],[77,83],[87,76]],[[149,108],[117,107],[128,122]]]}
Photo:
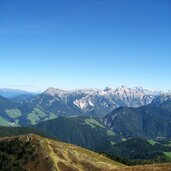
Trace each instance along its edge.
{"label": "pale jagged rocky peaks with bare white cliff patch, along skyline", "polygon": [[65,91],[49,88],[31,102],[56,115],[89,114],[103,117],[120,106],[140,107],[150,104],[157,92],[143,88],[80,89]]}

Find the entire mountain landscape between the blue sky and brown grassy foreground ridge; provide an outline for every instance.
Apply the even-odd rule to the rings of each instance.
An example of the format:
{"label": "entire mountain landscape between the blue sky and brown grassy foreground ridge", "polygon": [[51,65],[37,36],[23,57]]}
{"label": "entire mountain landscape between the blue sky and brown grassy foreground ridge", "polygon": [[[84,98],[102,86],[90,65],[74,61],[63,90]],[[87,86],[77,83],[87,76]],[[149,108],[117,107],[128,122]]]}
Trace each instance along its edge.
{"label": "entire mountain landscape between the blue sky and brown grassy foreground ridge", "polygon": [[170,92],[122,86],[0,96],[0,125],[8,126],[1,137],[33,133],[126,165],[171,161]]}

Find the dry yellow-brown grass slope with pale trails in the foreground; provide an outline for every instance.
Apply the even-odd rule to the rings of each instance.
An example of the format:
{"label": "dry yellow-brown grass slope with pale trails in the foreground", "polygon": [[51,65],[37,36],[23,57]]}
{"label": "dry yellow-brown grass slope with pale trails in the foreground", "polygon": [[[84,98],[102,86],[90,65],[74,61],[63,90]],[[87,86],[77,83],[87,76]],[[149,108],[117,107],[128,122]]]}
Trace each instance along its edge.
{"label": "dry yellow-brown grass slope with pale trails in the foreground", "polygon": [[171,164],[128,167],[87,149],[37,135],[17,138],[36,147],[37,157],[23,164],[29,171],[171,171]]}

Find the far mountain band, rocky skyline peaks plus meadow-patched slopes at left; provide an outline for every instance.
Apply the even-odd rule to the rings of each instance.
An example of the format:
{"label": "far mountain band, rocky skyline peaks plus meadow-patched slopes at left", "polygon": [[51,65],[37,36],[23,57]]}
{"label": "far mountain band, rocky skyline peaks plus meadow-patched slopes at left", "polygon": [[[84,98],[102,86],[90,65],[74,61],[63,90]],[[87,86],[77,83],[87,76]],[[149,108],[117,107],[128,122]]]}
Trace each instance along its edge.
{"label": "far mountain band, rocky skyline peaks plus meadow-patched slopes at left", "polygon": [[65,91],[49,88],[38,95],[0,96],[1,125],[33,125],[58,116],[95,116],[103,118],[119,107],[142,107],[171,97],[143,88],[80,89]]}

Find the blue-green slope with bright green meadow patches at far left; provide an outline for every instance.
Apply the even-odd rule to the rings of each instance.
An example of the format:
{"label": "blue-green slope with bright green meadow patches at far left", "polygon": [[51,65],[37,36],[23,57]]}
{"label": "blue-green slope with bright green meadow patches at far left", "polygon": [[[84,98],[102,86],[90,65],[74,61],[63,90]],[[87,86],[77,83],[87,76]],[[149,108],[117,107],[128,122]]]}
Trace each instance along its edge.
{"label": "blue-green slope with bright green meadow patches at far left", "polygon": [[17,102],[0,96],[1,126],[28,126],[55,117],[30,101]]}

